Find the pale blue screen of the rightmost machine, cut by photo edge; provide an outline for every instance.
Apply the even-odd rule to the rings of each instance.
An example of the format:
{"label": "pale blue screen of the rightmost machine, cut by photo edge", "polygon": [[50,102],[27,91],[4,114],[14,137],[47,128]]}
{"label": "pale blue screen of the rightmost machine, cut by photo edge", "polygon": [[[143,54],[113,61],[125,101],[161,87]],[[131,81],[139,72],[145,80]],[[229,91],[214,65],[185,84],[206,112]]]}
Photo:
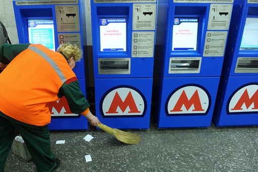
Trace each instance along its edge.
{"label": "pale blue screen of the rightmost machine, cut by photo edge", "polygon": [[258,18],[246,18],[240,50],[258,50]]}

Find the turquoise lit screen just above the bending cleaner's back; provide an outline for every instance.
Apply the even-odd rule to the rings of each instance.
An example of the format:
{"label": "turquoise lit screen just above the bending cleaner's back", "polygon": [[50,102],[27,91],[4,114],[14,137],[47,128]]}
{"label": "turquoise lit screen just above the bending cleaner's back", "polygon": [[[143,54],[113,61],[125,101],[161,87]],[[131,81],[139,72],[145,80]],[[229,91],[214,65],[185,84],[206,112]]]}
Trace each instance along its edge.
{"label": "turquoise lit screen just above the bending cleaner's back", "polygon": [[28,20],[29,43],[41,44],[55,51],[53,20]]}

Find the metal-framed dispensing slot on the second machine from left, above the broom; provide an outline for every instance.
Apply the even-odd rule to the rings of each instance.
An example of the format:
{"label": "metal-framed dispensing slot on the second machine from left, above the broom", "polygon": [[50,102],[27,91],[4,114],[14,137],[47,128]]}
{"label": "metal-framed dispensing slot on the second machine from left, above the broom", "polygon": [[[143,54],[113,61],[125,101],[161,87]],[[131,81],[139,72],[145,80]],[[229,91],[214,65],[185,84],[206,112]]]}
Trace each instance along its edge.
{"label": "metal-framed dispensing slot on the second machine from left, above the broom", "polygon": [[131,59],[98,59],[99,74],[130,74]]}

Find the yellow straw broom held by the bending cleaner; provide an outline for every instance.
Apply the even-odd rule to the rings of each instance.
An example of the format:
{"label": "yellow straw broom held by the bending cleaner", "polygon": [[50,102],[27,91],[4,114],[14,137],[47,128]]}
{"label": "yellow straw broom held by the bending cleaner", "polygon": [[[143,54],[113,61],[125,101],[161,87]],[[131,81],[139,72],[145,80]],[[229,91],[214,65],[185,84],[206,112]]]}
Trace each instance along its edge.
{"label": "yellow straw broom held by the bending cleaner", "polygon": [[103,123],[97,124],[101,130],[113,135],[117,140],[125,144],[138,144],[141,141],[141,137],[135,133],[128,133],[118,130],[116,128],[111,128]]}

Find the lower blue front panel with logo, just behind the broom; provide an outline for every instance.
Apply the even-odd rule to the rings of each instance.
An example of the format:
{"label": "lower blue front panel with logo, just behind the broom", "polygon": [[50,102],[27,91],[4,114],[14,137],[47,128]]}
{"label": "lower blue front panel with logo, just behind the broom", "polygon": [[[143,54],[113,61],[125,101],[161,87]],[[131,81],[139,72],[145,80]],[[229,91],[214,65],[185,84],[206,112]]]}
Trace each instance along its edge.
{"label": "lower blue front panel with logo, just behind the broom", "polygon": [[95,78],[95,90],[101,122],[120,129],[149,128],[152,78]]}

